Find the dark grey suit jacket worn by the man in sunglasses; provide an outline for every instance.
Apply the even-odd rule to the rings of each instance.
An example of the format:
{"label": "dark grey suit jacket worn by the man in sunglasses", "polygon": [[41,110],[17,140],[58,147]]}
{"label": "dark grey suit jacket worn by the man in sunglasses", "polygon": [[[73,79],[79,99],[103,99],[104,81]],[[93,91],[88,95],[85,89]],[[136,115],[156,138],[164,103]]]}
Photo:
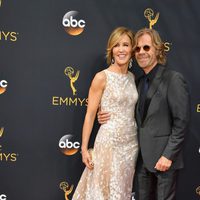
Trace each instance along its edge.
{"label": "dark grey suit jacket worn by the man in sunglasses", "polygon": [[[138,93],[140,96],[140,83]],[[161,156],[172,160],[171,169],[183,167],[182,146],[189,122],[189,93],[183,76],[159,66],[150,85],[151,99],[146,117],[141,122],[136,106],[138,140],[143,162],[155,172]]]}

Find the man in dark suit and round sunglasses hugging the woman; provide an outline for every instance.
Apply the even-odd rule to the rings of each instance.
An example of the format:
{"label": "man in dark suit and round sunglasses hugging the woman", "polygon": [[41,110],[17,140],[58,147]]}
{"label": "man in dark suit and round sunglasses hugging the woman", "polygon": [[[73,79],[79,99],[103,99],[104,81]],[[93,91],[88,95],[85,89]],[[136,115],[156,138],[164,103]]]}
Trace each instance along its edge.
{"label": "man in dark suit and round sunglasses hugging the woman", "polygon": [[[135,35],[135,58],[144,71],[136,106],[140,152],[136,168],[137,200],[174,200],[182,147],[189,122],[189,93],[183,76],[164,67],[166,56],[157,31]],[[109,114],[100,112],[105,123]]]}

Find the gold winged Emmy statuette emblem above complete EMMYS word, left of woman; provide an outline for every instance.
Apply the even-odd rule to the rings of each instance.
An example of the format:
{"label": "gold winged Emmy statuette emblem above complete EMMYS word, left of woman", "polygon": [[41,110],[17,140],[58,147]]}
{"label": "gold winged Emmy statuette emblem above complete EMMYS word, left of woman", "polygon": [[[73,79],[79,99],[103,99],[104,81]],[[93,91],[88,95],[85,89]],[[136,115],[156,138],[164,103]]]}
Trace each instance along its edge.
{"label": "gold winged Emmy statuette emblem above complete EMMYS word, left of woman", "polygon": [[[64,70],[64,74],[66,76],[68,76],[68,78],[70,79],[70,87],[72,89],[73,95],[76,95],[77,90],[74,87],[74,83],[77,81],[80,71],[78,70],[75,74],[74,69],[72,67],[66,67]],[[75,74],[75,75],[74,75]],[[73,76],[74,75],[74,76]]]}

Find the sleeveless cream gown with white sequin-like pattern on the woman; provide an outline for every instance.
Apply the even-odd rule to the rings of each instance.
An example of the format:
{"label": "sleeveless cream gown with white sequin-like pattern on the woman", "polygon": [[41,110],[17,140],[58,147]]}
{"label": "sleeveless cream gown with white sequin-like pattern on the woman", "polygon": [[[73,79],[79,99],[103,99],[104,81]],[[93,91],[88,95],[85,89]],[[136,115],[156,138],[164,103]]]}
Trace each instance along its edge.
{"label": "sleeveless cream gown with white sequin-like pattern on the woman", "polygon": [[104,70],[106,87],[101,109],[110,120],[97,133],[94,169],[85,168],[72,200],[130,200],[138,154],[137,125],[134,118],[138,93],[133,74]]}

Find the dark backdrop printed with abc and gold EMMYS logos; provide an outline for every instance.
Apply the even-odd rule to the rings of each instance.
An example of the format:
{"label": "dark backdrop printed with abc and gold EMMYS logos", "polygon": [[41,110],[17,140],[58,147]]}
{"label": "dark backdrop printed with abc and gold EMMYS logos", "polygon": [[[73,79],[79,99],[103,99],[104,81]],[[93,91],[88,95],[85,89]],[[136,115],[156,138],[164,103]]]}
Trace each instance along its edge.
{"label": "dark backdrop printed with abc and gold EMMYS logos", "polygon": [[[72,198],[84,169],[88,89],[107,67],[107,40],[118,26],[156,29],[168,67],[188,82],[191,122],[177,200],[199,199],[199,9],[198,0],[0,0],[0,200]],[[140,75],[136,63],[132,71]]]}

